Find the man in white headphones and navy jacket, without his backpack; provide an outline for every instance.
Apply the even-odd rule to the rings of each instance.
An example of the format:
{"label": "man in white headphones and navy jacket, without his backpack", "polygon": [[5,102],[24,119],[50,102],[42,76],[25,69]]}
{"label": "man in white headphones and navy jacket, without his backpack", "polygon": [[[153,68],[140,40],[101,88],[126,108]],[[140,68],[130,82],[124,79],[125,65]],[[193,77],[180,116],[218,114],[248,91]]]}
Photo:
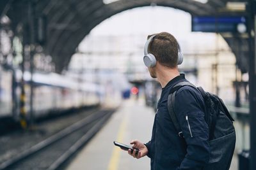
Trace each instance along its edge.
{"label": "man in white headphones and navy jacket, without his backpack", "polygon": [[136,155],[135,151],[128,150],[128,153],[137,159],[145,155],[150,157],[152,170],[202,169],[209,161],[209,129],[204,120],[205,104],[200,92],[190,86],[177,90],[174,111],[182,134],[178,135],[168,113],[170,90],[180,81],[188,81],[177,67],[182,62],[177,40],[168,32],[148,36],[144,53],[145,65],[150,76],[161,84],[162,93],[151,140],[147,144],[131,141],[140,152]]}

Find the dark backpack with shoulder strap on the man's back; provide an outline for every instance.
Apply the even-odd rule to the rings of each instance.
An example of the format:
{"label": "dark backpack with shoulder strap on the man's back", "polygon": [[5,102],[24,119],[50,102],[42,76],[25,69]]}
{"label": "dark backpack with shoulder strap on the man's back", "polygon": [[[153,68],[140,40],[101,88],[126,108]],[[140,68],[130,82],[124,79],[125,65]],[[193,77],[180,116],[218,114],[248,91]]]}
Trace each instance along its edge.
{"label": "dark backpack with shoulder strap on the man's back", "polygon": [[173,106],[177,90],[186,85],[198,90],[204,98],[206,108],[205,122],[209,127],[210,145],[210,159],[204,169],[227,170],[230,167],[232,156],[234,154],[236,132],[233,125],[234,119],[231,117],[227,107],[218,96],[205,92],[202,87],[195,87],[195,85],[188,81],[181,81],[174,85],[168,96],[168,112],[175,129],[179,136],[182,137],[180,135],[182,134],[182,131],[179,122],[177,121],[176,113],[173,110]]}

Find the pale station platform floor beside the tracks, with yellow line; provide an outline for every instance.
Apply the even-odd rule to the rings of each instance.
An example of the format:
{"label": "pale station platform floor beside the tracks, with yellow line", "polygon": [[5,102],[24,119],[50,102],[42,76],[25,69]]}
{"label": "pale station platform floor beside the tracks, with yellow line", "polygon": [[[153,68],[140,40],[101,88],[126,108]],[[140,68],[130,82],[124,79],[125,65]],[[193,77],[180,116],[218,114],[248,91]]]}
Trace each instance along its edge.
{"label": "pale station platform floor beside the tracks, with yellow line", "polygon": [[[113,113],[107,124],[79,152],[68,165],[68,170],[128,170],[150,169],[150,159],[146,156],[134,159],[127,152],[113,145],[113,141],[129,144],[132,139],[147,143],[151,138],[154,110],[145,106],[143,99],[129,99]],[[237,170],[234,156],[230,170]]]}

